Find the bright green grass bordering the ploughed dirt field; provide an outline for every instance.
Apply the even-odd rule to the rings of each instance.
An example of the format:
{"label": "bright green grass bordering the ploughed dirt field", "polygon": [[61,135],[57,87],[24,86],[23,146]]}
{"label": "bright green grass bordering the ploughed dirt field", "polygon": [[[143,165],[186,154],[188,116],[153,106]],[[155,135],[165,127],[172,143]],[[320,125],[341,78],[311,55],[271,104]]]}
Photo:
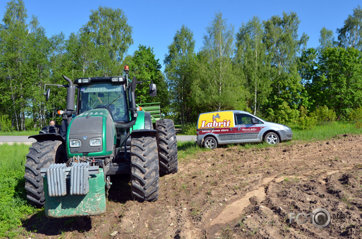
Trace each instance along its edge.
{"label": "bright green grass bordering the ploughed dirt field", "polygon": [[[351,123],[334,122],[330,125],[316,126],[311,130],[303,131],[296,127],[293,129],[293,140],[283,144],[295,144],[297,140],[313,141],[332,138],[338,134],[360,134],[362,129],[357,129]],[[37,133],[37,132],[36,132]],[[29,135],[29,134],[26,134]],[[225,146],[231,147],[231,146]],[[269,145],[245,144],[239,145],[240,149],[265,148]],[[0,238],[17,237],[26,235],[26,230],[22,227],[22,220],[28,215],[41,211],[35,209],[26,201],[24,189],[24,164],[28,145],[0,145]],[[186,156],[197,152],[206,151],[198,147],[195,142],[178,142],[179,160],[182,162]]]}

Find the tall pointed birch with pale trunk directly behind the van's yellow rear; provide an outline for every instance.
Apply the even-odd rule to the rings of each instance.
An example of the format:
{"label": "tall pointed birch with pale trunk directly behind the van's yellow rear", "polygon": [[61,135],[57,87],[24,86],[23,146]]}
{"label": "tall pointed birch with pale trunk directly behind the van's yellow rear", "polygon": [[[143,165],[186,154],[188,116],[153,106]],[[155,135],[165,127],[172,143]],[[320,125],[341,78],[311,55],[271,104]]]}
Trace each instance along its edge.
{"label": "tall pointed birch with pale trunk directly behind the van's yellow rear", "polygon": [[206,31],[203,49],[196,61],[193,100],[203,112],[244,109],[244,82],[234,73],[232,64],[234,27],[217,13]]}

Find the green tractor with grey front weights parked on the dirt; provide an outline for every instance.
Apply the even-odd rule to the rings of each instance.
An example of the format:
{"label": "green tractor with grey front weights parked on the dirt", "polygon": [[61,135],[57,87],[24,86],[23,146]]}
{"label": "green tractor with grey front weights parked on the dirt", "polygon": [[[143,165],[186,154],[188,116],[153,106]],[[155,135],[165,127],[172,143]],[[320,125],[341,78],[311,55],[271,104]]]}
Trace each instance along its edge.
{"label": "green tractor with grey front weights parked on the dirt", "polygon": [[[27,199],[45,206],[48,217],[104,213],[111,175],[131,174],[132,198],[156,201],[159,175],[178,171],[173,121],[152,124],[150,113],[138,111],[135,89],[142,81],[129,80],[128,73],[125,66],[124,76],[74,82],[63,75],[68,85],[55,85],[67,88],[66,110],[58,112],[62,124],[30,136],[37,141],[26,156],[24,176]],[[156,95],[152,81],[149,93]],[[48,101],[50,89],[45,95]]]}

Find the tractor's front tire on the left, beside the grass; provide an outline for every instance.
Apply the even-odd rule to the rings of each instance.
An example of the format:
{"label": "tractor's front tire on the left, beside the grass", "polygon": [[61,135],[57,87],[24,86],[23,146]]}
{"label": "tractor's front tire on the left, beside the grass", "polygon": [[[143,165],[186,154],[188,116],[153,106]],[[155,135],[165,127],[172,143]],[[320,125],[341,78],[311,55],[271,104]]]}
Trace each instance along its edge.
{"label": "tractor's front tire on the left, beside the grass", "polygon": [[59,140],[33,142],[26,155],[25,190],[30,204],[42,208],[45,203],[43,177],[41,168],[51,164],[62,163],[65,160],[65,146]]}

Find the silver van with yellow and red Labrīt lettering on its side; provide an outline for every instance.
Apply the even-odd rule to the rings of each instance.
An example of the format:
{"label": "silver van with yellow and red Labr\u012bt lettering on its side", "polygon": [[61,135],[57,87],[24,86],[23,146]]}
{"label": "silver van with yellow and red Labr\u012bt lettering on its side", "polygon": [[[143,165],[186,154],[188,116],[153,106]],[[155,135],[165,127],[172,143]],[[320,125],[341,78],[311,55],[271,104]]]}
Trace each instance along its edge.
{"label": "silver van with yellow and red Labr\u012bt lettering on its side", "polygon": [[292,129],[283,124],[267,122],[246,111],[217,111],[198,116],[196,143],[208,149],[218,145],[260,142],[270,145],[291,140]]}

